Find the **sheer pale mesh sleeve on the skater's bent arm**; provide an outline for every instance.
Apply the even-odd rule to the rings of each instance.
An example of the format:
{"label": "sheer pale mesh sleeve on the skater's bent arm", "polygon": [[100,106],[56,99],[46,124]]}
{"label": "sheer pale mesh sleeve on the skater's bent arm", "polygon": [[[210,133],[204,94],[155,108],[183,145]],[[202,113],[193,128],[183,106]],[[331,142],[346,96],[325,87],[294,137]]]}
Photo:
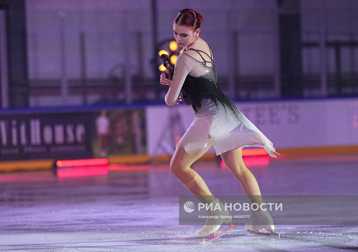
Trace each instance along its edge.
{"label": "sheer pale mesh sleeve on the skater's bent arm", "polygon": [[171,79],[173,83],[170,84],[168,93],[165,95],[165,103],[169,106],[176,104],[180,89],[182,89],[185,78],[187,78],[187,75],[190,72],[185,60],[187,60],[187,58],[184,57],[183,53],[176,58],[173,78]]}

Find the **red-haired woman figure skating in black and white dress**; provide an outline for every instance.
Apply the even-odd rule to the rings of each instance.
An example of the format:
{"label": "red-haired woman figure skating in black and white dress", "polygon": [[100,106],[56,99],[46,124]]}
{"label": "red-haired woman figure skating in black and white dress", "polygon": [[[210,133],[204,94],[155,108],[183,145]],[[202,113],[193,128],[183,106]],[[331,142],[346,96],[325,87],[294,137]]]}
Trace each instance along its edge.
{"label": "red-haired woman figure skating in black and white dress", "polygon": [[[203,17],[192,9],[181,10],[176,15],[173,24],[174,38],[183,48],[183,53],[176,59],[173,74],[166,70],[167,78],[165,73],[160,76],[160,84],[169,85],[165,95],[166,104],[179,104],[182,101],[179,92],[183,88],[195,112],[194,121],[176,145],[170,170],[202,203],[221,206],[221,212],[209,210],[210,215],[230,216],[190,165],[214,146],[216,155],[221,156],[224,164],[240,182],[251,203],[261,205],[260,188],[242,160],[242,147],[263,147],[273,157],[276,157],[275,153],[279,153],[275,151],[272,142],[238,110],[218,86],[213,52],[209,44],[199,37],[202,20]],[[249,232],[262,233],[258,230],[265,228],[271,234],[276,234],[267,209],[252,211],[252,214],[253,218],[245,224]],[[203,241],[217,238],[215,232],[221,224],[231,225],[231,221],[231,218],[208,218],[199,231],[199,236]],[[232,226],[228,229],[233,228]],[[211,239],[204,239],[211,234]]]}

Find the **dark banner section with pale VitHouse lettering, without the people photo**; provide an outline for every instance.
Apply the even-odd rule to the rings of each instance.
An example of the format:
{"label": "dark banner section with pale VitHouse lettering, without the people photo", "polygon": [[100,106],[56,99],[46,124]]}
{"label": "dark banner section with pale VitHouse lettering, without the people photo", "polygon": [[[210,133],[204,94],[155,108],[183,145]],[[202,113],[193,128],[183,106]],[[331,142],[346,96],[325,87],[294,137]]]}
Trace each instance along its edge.
{"label": "dark banner section with pale VitHouse lettering, without the people photo", "polygon": [[91,113],[0,116],[0,160],[91,158]]}

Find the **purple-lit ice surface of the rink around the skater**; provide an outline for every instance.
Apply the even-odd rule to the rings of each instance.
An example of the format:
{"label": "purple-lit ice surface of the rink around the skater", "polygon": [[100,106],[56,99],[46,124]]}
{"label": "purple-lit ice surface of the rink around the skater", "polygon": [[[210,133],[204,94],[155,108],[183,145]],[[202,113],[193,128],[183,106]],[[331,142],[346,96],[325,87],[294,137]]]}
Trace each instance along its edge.
{"label": "purple-lit ice surface of the rink around the skater", "polygon": [[[304,155],[248,168],[262,195],[357,195],[357,164],[357,155]],[[217,161],[192,168],[214,195],[244,194]],[[357,226],[275,225],[279,238],[250,234],[240,223],[202,243],[202,226],[179,225],[179,195],[189,192],[169,163],[72,172],[0,174],[0,251],[358,251]]]}

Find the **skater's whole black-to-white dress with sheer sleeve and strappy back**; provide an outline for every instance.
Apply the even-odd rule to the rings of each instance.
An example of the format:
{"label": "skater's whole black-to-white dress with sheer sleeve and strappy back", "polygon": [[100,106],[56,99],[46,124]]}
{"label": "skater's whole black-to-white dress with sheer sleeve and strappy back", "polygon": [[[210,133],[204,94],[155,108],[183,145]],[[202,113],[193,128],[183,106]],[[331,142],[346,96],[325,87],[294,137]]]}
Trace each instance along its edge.
{"label": "skater's whole black-to-white dress with sheer sleeve and strappy back", "polygon": [[[208,47],[210,56],[201,50],[188,49],[199,53],[203,61],[184,53],[185,48],[176,59],[173,83],[170,84],[165,102],[170,106],[175,105],[183,88],[195,112],[194,121],[177,146],[189,154],[207,151],[211,139],[216,155],[243,146],[255,146],[265,148],[270,156],[276,157],[275,153],[279,153],[272,142],[221,91],[209,44]],[[206,61],[200,52],[208,55],[211,61]],[[211,66],[206,63],[211,63]]]}

